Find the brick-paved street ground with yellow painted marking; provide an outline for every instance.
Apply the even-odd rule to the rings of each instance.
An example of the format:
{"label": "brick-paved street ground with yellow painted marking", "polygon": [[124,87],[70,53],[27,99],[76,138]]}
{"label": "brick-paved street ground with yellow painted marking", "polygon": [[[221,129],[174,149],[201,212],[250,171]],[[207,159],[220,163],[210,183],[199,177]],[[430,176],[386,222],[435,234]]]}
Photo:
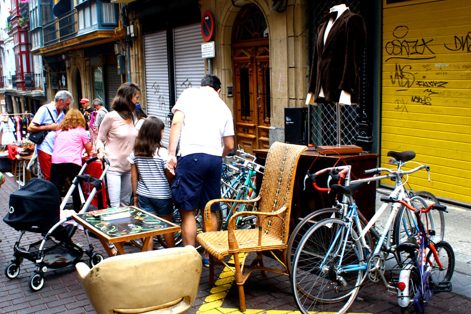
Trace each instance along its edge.
{"label": "brick-paved street ground with yellow painted marking", "polygon": [[[12,177],[7,177],[0,188],[0,216],[4,217],[8,210],[9,195],[18,189],[18,184]],[[471,232],[468,223],[471,211],[450,208],[446,214],[446,240],[451,243],[456,254],[456,269],[452,278],[453,292],[435,294],[426,308],[426,313],[470,313],[471,312],[471,247],[468,241]],[[8,279],[4,269],[13,255],[13,244],[19,232],[0,221],[0,313],[94,313],[87,299],[73,266],[50,270],[46,273],[42,290],[32,292],[28,281],[35,269],[34,264],[25,260],[20,274],[15,279]],[[22,243],[32,243],[40,236],[28,233]],[[75,242],[86,243],[84,233],[78,231],[74,235]],[[100,242],[92,239],[100,253],[105,250]],[[136,252],[137,248],[127,246],[128,252]],[[85,258],[84,258],[85,261]],[[265,264],[275,265],[270,258],[265,258]],[[220,314],[237,313],[239,298],[235,284],[232,283],[232,272],[216,268],[216,284],[208,284],[208,270],[204,268],[197,299],[190,314]],[[123,286],[125,283],[123,283]],[[286,276],[267,273],[266,277],[254,272],[244,285],[247,311],[245,313],[282,314],[296,311],[289,280]],[[349,309],[351,313],[400,313],[394,293],[387,292],[381,283],[369,283],[359,292],[359,298]]]}

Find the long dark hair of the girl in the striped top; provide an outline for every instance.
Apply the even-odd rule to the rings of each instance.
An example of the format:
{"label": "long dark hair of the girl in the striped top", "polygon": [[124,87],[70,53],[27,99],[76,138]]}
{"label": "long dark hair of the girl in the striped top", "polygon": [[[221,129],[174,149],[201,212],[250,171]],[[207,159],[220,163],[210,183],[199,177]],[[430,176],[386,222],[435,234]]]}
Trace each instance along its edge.
{"label": "long dark hair of the girl in the striped top", "polygon": [[157,117],[148,117],[141,126],[134,144],[134,155],[154,157],[162,145],[162,130],[165,124]]}

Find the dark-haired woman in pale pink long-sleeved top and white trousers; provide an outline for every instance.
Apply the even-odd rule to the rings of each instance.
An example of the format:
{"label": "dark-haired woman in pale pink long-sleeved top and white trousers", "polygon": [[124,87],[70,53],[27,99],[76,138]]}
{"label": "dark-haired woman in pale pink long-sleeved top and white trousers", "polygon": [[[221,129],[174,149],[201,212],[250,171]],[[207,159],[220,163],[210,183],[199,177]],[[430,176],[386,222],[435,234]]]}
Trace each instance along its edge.
{"label": "dark-haired woman in pale pink long-sleeved top and white trousers", "polygon": [[138,131],[134,127],[133,112],[139,101],[139,86],[124,83],[118,89],[111,107],[105,115],[98,131],[98,158],[103,156],[110,161],[106,174],[111,207],[127,206],[131,199],[131,163],[129,155],[134,148]]}

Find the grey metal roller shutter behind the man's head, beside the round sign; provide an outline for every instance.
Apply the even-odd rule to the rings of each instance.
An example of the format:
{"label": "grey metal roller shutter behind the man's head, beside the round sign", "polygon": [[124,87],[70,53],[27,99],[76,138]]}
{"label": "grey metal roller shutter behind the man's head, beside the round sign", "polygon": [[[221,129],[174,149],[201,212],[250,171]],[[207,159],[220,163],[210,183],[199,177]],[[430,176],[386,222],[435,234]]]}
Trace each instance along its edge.
{"label": "grey metal roller shutter behind the man's head, beside the round sign", "polygon": [[201,58],[201,24],[177,27],[173,31],[175,45],[175,87],[177,98],[188,87],[199,87],[204,76]]}

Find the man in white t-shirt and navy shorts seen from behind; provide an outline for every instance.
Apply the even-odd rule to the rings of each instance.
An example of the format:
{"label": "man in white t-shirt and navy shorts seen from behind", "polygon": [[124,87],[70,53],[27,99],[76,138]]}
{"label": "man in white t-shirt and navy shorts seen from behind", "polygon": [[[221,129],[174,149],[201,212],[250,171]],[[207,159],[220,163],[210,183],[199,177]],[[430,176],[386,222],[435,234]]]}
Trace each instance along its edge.
{"label": "man in white t-shirt and navy shorts seen from behind", "polygon": [[[220,91],[219,78],[207,74],[201,87],[183,91],[172,108],[167,167],[175,174],[172,199],[182,217],[183,245],[195,245],[195,210],[203,211],[208,201],[221,197],[222,157],[234,148],[232,113],[219,98]],[[214,207],[211,216],[216,230],[213,210],[219,206]]]}

